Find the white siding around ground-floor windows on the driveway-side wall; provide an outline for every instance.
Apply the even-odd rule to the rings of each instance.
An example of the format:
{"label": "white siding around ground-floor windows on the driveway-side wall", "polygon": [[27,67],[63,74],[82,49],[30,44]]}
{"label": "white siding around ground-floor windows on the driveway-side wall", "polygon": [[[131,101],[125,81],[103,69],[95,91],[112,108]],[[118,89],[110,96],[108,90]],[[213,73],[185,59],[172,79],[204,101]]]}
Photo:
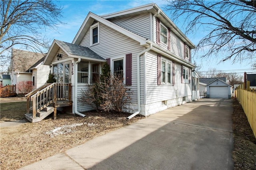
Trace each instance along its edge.
{"label": "white siding around ground-floor windows on the driveway-side wall", "polygon": [[181,83],[181,65],[175,62],[175,85],[157,85],[157,53],[146,53],[146,104],[191,96],[191,83]]}

